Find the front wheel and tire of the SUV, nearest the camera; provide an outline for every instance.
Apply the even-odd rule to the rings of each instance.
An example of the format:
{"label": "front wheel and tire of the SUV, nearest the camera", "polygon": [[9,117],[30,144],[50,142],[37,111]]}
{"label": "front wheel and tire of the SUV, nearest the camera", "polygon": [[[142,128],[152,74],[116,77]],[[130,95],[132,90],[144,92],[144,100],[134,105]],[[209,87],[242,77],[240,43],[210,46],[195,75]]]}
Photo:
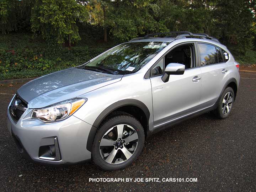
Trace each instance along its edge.
{"label": "front wheel and tire of the SUV, nearest the camera", "polygon": [[128,113],[116,113],[97,130],[92,160],[103,170],[123,169],[138,158],[144,140],[144,129],[136,118]]}

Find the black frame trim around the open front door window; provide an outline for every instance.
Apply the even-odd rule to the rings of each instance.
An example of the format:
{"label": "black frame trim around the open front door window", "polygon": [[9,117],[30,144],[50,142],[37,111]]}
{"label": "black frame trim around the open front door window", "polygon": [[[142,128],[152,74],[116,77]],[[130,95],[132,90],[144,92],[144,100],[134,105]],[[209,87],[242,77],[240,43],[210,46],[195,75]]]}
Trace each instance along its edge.
{"label": "black frame trim around the open front door window", "polygon": [[[194,41],[190,41],[190,42],[184,42],[184,43],[179,43],[179,44],[176,44],[175,46],[173,46],[173,47],[171,47],[169,50],[167,50],[163,55],[162,55],[162,57],[160,57],[151,67],[150,67],[150,69],[148,70],[148,72],[145,74],[145,76],[144,76],[144,78],[145,79],[148,79],[148,78],[153,78],[153,77],[157,77],[157,76],[162,76],[162,74],[159,74],[159,75],[155,75],[155,76],[151,76],[151,73],[152,73],[152,69],[154,68],[154,66],[155,65],[157,65],[158,64],[158,62],[162,59],[162,58],[164,58],[164,63],[165,63],[165,56],[171,51],[171,50],[173,50],[173,49],[175,49],[176,47],[178,47],[178,46],[182,46],[182,45],[186,45],[186,44],[193,44],[193,46],[194,46],[194,67],[193,68],[189,68],[189,69],[185,69],[185,71],[186,70],[190,70],[190,69],[194,69],[194,68],[197,68],[197,67],[200,67],[200,63],[198,62],[198,60],[199,60],[199,57],[198,57],[198,49],[197,49],[197,44],[196,44],[196,42],[194,42]],[[150,71],[150,72],[149,72]],[[164,71],[165,71],[165,67],[164,67]],[[163,71],[163,72],[164,72]],[[148,75],[148,74],[150,74],[150,75]]]}

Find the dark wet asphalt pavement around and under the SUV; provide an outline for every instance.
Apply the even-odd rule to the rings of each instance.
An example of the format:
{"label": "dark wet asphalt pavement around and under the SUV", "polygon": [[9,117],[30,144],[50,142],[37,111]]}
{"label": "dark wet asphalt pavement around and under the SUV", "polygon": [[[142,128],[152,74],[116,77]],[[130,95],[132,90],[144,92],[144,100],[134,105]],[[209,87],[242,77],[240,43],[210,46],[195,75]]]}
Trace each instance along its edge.
{"label": "dark wet asphalt pavement around and under the SUV", "polygon": [[[229,118],[203,114],[151,136],[139,158],[118,171],[93,163],[49,167],[23,160],[7,130],[7,106],[22,84],[0,84],[0,191],[256,191],[256,73],[240,72]],[[159,178],[161,182],[89,182]],[[197,182],[162,182],[197,178]]]}

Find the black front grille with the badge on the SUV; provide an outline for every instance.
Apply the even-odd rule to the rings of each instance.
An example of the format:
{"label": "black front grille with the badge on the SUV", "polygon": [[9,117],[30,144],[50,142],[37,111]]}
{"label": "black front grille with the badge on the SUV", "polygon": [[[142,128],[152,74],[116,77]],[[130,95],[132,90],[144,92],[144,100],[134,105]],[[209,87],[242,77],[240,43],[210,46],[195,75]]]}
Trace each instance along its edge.
{"label": "black front grille with the badge on the SUV", "polygon": [[27,102],[16,94],[14,100],[12,100],[9,110],[12,118],[15,121],[18,121],[22,114],[27,110]]}

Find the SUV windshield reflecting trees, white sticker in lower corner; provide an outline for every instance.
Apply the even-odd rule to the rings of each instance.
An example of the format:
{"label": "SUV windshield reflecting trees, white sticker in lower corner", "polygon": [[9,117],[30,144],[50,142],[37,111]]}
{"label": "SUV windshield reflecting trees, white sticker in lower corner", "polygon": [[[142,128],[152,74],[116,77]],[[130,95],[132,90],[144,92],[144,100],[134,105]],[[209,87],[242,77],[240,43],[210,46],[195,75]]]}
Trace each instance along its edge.
{"label": "SUV windshield reflecting trees, white sticker in lower corner", "polygon": [[124,43],[85,64],[83,68],[111,74],[135,73],[168,44],[168,42]]}

